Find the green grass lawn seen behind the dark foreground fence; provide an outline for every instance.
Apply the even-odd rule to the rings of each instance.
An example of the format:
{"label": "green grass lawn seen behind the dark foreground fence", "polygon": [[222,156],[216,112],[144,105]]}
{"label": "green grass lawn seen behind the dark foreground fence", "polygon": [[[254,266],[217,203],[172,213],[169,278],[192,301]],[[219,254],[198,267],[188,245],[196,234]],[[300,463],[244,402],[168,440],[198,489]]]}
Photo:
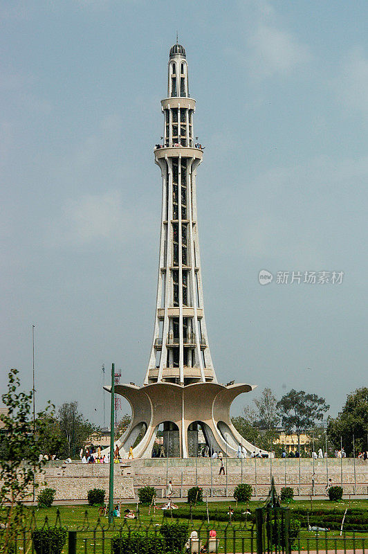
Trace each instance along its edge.
{"label": "green grass lawn seen behind the dark foreground fence", "polygon": [[[255,508],[263,506],[264,503],[259,501],[251,501],[248,504],[248,508],[253,512]],[[179,506],[183,506],[180,504]],[[185,506],[185,505],[184,505]],[[202,505],[203,506],[203,505]],[[210,503],[210,510],[221,510],[228,512],[228,507],[235,508],[235,502],[216,502]],[[294,501],[289,504],[289,508],[294,510],[295,508],[310,508],[311,503],[308,501]],[[136,510],[136,504],[125,505],[131,510]],[[244,506],[245,508],[245,506]],[[351,500],[342,502],[330,502],[330,501],[313,501],[313,510],[316,509],[333,510],[338,508],[344,511],[346,508],[364,508],[368,509],[368,500]],[[27,520],[28,524],[32,519],[31,508],[27,508]],[[48,525],[53,526],[57,521],[57,512],[59,512],[59,521],[63,526],[66,526],[68,530],[79,530],[77,533],[77,553],[78,554],[111,554],[111,537],[118,533],[118,530],[102,530],[102,527],[107,527],[107,518],[100,518],[98,515],[98,508],[90,506],[55,506],[52,508],[36,509],[34,510],[34,523],[37,526],[43,526],[45,519],[47,518]],[[151,529],[158,530],[160,524],[163,523],[163,511],[156,510],[156,515],[151,511],[149,515],[149,508],[147,506],[140,506],[140,519],[137,520],[124,520],[116,519],[116,526],[120,527],[120,524],[124,523],[127,528],[142,528],[145,530],[147,526]],[[170,518],[168,518],[170,519]],[[167,519],[166,519],[167,521]],[[179,521],[173,519],[173,522]],[[207,539],[207,533],[209,528],[215,528],[217,530],[217,536],[219,537],[219,553],[242,553],[242,552],[255,552],[256,551],[256,534],[255,529],[253,535],[251,534],[252,524],[248,523],[245,528],[243,522],[234,522],[229,524],[226,521],[210,521],[208,527],[207,522],[199,521],[195,519],[195,509],[193,510],[192,523],[188,522],[191,528],[199,530],[201,535],[201,542],[205,542]],[[97,526],[97,528],[96,528]],[[321,524],[323,526],[323,524]],[[253,539],[251,539],[253,536]],[[29,535],[28,535],[29,537]],[[344,539],[345,537],[345,539]],[[368,547],[368,530],[365,532],[356,533],[356,548],[362,549]],[[364,543],[362,543],[364,541]],[[19,543],[18,552],[29,552],[29,542]],[[344,550],[345,548],[353,548],[353,532],[347,531],[346,535],[340,537],[340,532],[337,530],[331,530],[328,533],[313,533],[308,530],[301,530],[300,537],[297,543],[295,543],[295,550],[308,551],[308,550]],[[68,553],[68,549],[65,546],[64,554]]]}

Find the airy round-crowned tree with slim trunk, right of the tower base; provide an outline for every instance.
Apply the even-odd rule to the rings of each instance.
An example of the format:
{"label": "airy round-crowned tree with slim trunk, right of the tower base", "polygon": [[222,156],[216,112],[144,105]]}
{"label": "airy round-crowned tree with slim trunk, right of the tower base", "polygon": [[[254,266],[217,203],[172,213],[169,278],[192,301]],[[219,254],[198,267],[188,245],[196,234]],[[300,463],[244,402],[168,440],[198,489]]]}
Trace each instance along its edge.
{"label": "airy round-crowned tree with slim trunk, right of the tower base", "polygon": [[314,427],[316,421],[323,419],[329,405],[316,394],[291,389],[277,402],[277,411],[285,431],[297,434],[298,451],[300,452],[300,434]]}

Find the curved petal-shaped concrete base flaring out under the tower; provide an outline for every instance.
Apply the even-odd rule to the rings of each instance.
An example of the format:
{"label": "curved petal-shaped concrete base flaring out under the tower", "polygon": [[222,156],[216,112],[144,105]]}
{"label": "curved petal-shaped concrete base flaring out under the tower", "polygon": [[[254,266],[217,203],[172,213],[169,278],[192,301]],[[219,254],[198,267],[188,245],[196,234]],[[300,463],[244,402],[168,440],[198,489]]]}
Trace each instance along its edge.
{"label": "curved petal-shaped concrete base flaring out under the tower", "polygon": [[[151,458],[158,427],[164,422],[175,429],[172,436],[178,439],[176,452],[181,458],[190,457],[188,430],[192,423],[201,425],[210,450],[221,450],[225,456],[234,457],[240,444],[246,456],[250,456],[254,450],[266,454],[241,437],[230,419],[230,405],[234,398],[253,388],[255,386],[249,384],[224,386],[203,382],[187,386],[165,382],[142,387],[117,385],[115,392],[128,400],[132,411],[131,423],[116,443],[120,456],[128,457],[129,448],[136,442],[142,427],[145,427],[145,435],[134,447],[133,454],[134,458]],[[111,390],[110,387],[105,389]]]}

